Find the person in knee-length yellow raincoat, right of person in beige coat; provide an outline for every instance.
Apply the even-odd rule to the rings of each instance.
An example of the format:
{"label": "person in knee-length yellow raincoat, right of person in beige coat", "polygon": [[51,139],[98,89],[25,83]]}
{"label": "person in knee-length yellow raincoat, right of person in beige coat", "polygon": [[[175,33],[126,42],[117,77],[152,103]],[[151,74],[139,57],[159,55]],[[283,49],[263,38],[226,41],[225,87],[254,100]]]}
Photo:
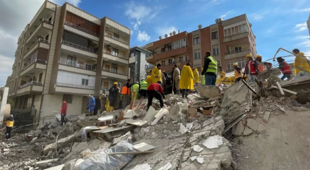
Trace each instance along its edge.
{"label": "person in knee-length yellow raincoat, right of person in beige coat", "polygon": [[189,90],[194,89],[194,74],[190,68],[191,64],[187,63],[183,66],[180,77],[180,88],[182,89],[182,98],[187,97]]}

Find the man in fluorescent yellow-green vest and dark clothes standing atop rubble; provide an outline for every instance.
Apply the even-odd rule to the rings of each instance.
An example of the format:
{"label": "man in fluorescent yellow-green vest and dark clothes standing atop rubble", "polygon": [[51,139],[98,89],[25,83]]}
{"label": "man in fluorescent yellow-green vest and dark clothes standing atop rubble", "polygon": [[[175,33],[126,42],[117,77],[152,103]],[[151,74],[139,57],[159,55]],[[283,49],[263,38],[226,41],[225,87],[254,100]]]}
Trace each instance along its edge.
{"label": "man in fluorescent yellow-green vest and dark clothes standing atop rubble", "polygon": [[202,75],[205,75],[205,85],[215,85],[217,82],[217,61],[212,58],[210,51],[205,53]]}

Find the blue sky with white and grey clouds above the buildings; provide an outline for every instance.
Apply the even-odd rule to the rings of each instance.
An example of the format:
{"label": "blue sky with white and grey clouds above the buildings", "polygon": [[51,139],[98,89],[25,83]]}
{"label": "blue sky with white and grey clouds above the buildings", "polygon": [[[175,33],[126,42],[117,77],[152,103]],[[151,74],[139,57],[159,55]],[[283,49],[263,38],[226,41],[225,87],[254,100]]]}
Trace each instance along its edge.
{"label": "blue sky with white and grey clouds above the buildings", "polygon": [[[145,45],[172,31],[192,32],[247,14],[258,54],[267,60],[279,47],[310,54],[306,21],[309,0],[51,0],[65,1],[96,16],[107,16],[132,30],[130,45]],[[44,0],[0,0],[0,85],[12,74],[17,39]],[[22,9],[22,10],[20,10]],[[25,15],[27,14],[27,15]],[[280,52],[280,55],[287,55]]]}

